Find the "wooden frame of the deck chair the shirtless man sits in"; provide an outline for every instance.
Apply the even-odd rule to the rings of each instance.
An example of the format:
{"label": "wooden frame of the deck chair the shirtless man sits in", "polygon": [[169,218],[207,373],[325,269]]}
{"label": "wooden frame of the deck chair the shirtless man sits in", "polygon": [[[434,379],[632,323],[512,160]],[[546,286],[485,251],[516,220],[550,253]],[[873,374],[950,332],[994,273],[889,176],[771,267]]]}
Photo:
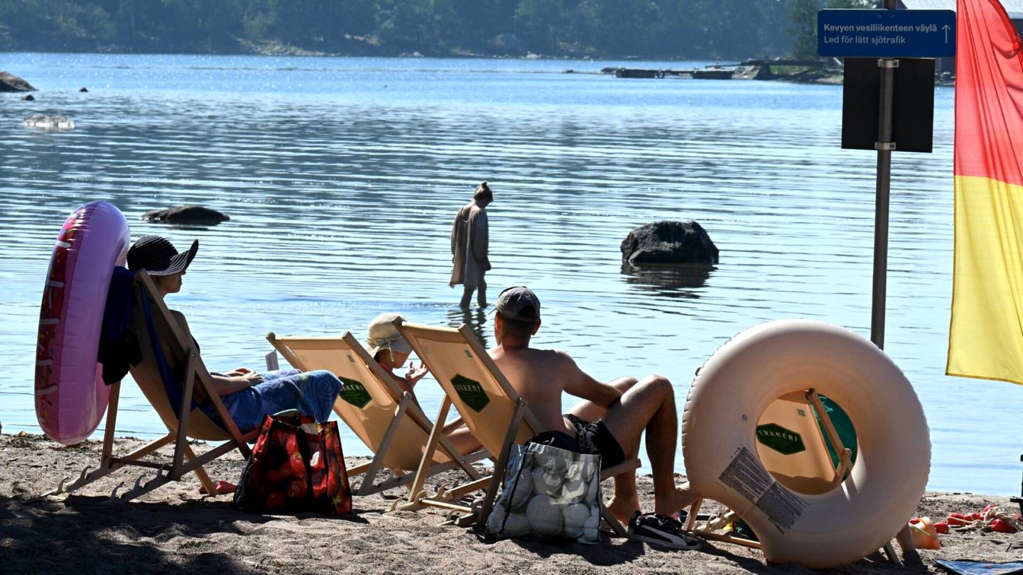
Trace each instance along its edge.
{"label": "wooden frame of the deck chair the shirtless man sits in", "polygon": [[[415,323],[395,322],[395,325],[401,331],[402,336],[404,336],[405,341],[408,342],[413,350],[415,350],[419,359],[422,360],[422,362],[427,364],[427,367],[430,368],[430,372],[434,374],[438,383],[441,385],[441,389],[444,391],[444,400],[441,403],[440,411],[435,419],[438,425],[434,427],[434,433],[431,434],[430,443],[428,444],[427,451],[422,455],[422,461],[419,465],[419,473],[416,474],[408,499],[404,503],[401,503],[400,501],[396,502],[394,508],[418,510],[424,506],[439,507],[449,512],[449,521],[445,523],[459,525],[462,527],[482,525],[490,515],[490,511],[493,508],[494,500],[497,496],[497,490],[500,488],[501,480],[503,479],[505,469],[507,468],[508,457],[511,453],[511,445],[528,441],[530,438],[537,435],[538,430],[542,430],[543,427],[536,418],[536,415],[534,415],[529,409],[529,406],[526,404],[526,400],[519,395],[514,387],[511,387],[511,384],[507,381],[500,368],[497,367],[497,364],[490,357],[490,354],[487,353],[487,350],[484,349],[483,345],[481,345],[476,339],[476,336],[473,334],[469,325],[462,324],[457,329],[451,327],[434,327]],[[471,423],[472,425],[476,425],[477,419],[482,419],[483,417],[480,413],[468,408],[466,404],[461,400],[457,392],[454,391],[453,384],[451,382],[442,381],[443,375],[439,374],[443,373],[445,370],[441,368],[441,360],[435,357],[430,352],[429,345],[426,345],[426,341],[428,340],[468,346],[468,359],[478,361],[489,377],[497,384],[501,395],[503,395],[503,397],[494,397],[490,398],[490,400],[505,401],[509,406],[514,406],[511,415],[506,423],[492,422],[486,424],[490,426],[492,430],[496,430],[498,432],[497,435],[501,435],[499,433],[500,431],[504,432],[502,434],[503,439],[499,440],[499,443],[494,443],[493,439],[477,435],[477,439],[483,443],[485,448],[489,449],[492,453],[499,453],[497,461],[494,466],[493,475],[454,487],[452,489],[442,488],[434,496],[427,496],[427,494],[422,491],[422,486],[426,482],[425,469],[429,461],[430,454],[437,448],[439,440],[438,430],[443,427],[441,423],[447,419],[448,410],[451,405],[454,404],[455,409],[457,409],[466,425],[471,425]],[[492,415],[490,416],[492,417]],[[494,434],[489,434],[488,437],[493,436]],[[491,442],[491,444],[487,445],[487,442]],[[634,472],[638,467],[639,459],[627,459],[618,466],[603,470],[601,472],[601,480],[603,481],[623,473]],[[458,502],[460,497],[479,490],[483,490],[485,492],[483,504],[481,506],[474,507]],[[622,537],[628,537],[628,532],[622,524],[619,523],[613,515],[611,515],[611,512],[604,506],[603,501],[601,501],[601,516],[612,531]]]}

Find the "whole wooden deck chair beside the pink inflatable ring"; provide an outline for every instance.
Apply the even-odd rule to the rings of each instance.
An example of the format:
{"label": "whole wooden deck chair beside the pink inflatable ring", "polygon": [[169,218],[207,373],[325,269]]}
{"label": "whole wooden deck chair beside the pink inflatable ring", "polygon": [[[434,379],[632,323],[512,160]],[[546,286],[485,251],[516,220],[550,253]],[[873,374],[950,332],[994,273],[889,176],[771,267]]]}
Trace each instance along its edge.
{"label": "whole wooden deck chair beside the pink inflatable ring", "polygon": [[[133,283],[134,304],[130,329],[138,340],[142,361],[131,368],[131,374],[139,389],[142,390],[142,394],[160,414],[160,418],[163,419],[167,427],[167,435],[128,454],[115,455],[114,430],[117,424],[121,383],[114,384],[110,386],[99,468],[96,470],[84,469],[78,480],[71,484],[65,485],[69,478],[64,478],[56,489],[45,493],[44,496],[73,491],[128,466],[155,470],[155,476],[147,482],[143,482],[144,476],[140,476],[135,481],[135,485],[120,496],[122,500],[133,499],[171,481],[180,481],[181,477],[189,472],[198,477],[207,493],[213,494],[215,492],[214,483],[203,470],[203,466],[233,449],[240,451],[242,456],[247,458],[251,454],[247,442],[254,440],[259,434],[259,430],[252,430],[247,434],[241,434],[238,431],[224,403],[214,391],[213,380],[206,366],[203,365],[203,360],[199,359],[194,342],[185,339],[177,320],[171,315],[167,304],[159,296],[148,273],[145,270],[137,272]],[[154,347],[150,333],[169,334],[169,337],[165,336],[164,341],[157,342],[158,345]],[[173,373],[170,373],[169,368],[161,368],[160,356],[166,353],[165,349],[177,357],[188,358],[184,369],[176,370],[179,377],[183,373],[183,381],[179,381]],[[163,359],[166,360],[166,357]],[[165,380],[162,371],[170,375],[168,379],[171,381]],[[194,391],[196,386],[206,392],[223,425],[213,422],[195,406]],[[224,443],[195,456],[195,453],[188,446],[189,438]],[[174,445],[174,457],[170,465],[158,463],[143,458],[170,444]],[[110,493],[112,499],[118,496],[119,488],[120,485]]]}

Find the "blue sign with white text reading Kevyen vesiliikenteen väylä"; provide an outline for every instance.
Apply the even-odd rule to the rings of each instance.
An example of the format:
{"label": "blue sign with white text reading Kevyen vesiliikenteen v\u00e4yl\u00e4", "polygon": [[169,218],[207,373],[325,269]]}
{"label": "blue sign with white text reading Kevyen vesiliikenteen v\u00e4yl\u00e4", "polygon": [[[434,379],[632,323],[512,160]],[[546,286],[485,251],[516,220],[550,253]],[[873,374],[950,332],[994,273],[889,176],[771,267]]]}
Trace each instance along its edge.
{"label": "blue sign with white text reading Kevyen vesiliikenteen v\u00e4yl\u00e4", "polygon": [[820,10],[821,56],[937,58],[955,55],[952,10]]}

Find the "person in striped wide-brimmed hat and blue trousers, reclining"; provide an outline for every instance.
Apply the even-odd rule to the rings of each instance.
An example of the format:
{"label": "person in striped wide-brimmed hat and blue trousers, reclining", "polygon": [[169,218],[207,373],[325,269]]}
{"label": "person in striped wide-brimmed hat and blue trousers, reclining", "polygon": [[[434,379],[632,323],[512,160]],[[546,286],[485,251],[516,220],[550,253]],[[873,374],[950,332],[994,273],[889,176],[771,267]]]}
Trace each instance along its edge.
{"label": "person in striped wide-brimmed hat and blue trousers, reclining", "polygon": [[[181,291],[181,278],[198,251],[198,240],[192,241],[187,252],[178,253],[174,246],[159,235],[143,235],[128,251],[128,269],[132,272],[145,269],[157,286],[159,296]],[[186,339],[195,340],[188,329],[188,322],[181,312],[171,310]],[[161,326],[167,330],[167,326]],[[169,335],[163,334],[160,340],[168,341]],[[195,343],[198,350],[198,343]],[[185,363],[184,357],[176,357],[173,350],[164,346],[164,353],[172,369],[180,369]],[[317,422],[326,422],[342,383],[329,371],[301,372],[297,369],[258,373],[251,369],[239,367],[226,373],[211,373],[217,386],[217,394],[227,407],[231,418],[241,433],[254,430],[263,425],[267,415],[286,409],[297,409],[306,415],[313,415]],[[196,400],[213,421],[219,416],[212,404],[205,397],[202,388],[195,389]]]}

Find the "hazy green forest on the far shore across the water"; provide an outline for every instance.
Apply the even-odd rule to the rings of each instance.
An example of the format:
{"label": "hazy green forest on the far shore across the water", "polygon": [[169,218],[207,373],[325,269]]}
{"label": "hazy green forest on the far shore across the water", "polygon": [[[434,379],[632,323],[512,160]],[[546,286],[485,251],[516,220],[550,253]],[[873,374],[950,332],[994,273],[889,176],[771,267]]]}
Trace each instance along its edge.
{"label": "hazy green forest on the far shore across the water", "polygon": [[815,44],[817,9],[869,4],[870,0],[0,0],[0,50],[748,58],[802,54]]}

